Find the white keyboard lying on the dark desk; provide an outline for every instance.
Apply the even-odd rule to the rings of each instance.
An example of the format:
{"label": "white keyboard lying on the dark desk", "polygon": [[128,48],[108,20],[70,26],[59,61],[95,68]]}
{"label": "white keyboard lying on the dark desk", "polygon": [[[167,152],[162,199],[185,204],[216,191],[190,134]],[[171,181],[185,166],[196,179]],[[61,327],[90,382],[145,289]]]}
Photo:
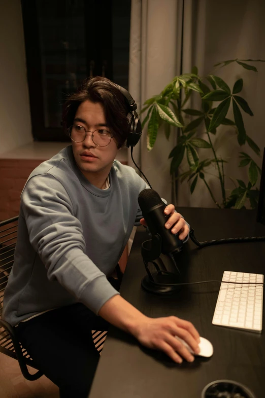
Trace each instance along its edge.
{"label": "white keyboard lying on the dark desk", "polygon": [[261,333],[263,285],[235,282],[262,283],[263,275],[224,271],[212,323]]}

